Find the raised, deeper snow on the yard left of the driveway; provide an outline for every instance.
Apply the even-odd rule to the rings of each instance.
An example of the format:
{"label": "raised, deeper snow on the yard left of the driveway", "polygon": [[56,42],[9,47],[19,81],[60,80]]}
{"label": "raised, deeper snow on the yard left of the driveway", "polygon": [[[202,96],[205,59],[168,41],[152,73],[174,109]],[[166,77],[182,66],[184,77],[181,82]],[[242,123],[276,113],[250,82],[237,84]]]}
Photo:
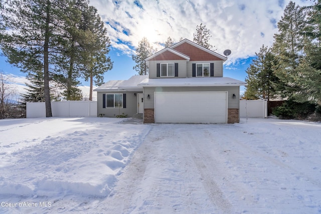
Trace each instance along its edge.
{"label": "raised, deeper snow on the yard left of the driveway", "polygon": [[[32,119],[22,126],[9,123],[16,133],[26,127],[29,133],[0,144],[0,194],[107,196],[149,129],[120,120],[44,118],[37,129]],[[12,132],[10,126],[3,136]]]}

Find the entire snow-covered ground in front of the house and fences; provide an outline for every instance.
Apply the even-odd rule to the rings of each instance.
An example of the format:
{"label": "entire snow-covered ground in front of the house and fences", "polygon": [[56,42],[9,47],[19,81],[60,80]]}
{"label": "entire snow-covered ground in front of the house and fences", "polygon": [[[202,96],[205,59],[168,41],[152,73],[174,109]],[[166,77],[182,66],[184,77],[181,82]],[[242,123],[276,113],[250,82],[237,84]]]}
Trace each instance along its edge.
{"label": "entire snow-covered ground in front of the house and fences", "polygon": [[321,213],[321,124],[0,120],[0,213]]}

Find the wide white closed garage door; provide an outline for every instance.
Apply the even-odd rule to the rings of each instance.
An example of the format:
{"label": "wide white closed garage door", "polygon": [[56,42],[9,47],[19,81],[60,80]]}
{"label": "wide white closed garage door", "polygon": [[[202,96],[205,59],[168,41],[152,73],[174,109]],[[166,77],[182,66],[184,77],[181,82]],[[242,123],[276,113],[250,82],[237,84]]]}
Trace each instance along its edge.
{"label": "wide white closed garage door", "polygon": [[156,123],[227,123],[227,92],[154,92]]}

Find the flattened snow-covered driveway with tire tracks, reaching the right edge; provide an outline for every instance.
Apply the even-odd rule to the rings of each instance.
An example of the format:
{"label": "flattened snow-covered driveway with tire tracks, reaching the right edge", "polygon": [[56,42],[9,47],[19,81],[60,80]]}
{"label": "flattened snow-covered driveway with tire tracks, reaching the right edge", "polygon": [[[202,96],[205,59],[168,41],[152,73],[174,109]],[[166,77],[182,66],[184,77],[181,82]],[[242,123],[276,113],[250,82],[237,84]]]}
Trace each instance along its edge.
{"label": "flattened snow-covered driveway with tire tracks, reaching the right edge", "polygon": [[321,212],[321,126],[250,121],[153,125],[99,211]]}

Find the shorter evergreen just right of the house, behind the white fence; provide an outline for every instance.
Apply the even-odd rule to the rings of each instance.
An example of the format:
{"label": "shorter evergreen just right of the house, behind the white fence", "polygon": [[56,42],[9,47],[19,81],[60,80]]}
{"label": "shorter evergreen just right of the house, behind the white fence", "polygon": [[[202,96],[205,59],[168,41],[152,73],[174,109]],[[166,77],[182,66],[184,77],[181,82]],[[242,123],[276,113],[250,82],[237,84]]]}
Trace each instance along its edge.
{"label": "shorter evergreen just right of the house, behind the white fence", "polygon": [[259,53],[255,53],[256,59],[252,61],[246,73],[248,77],[245,79],[246,86],[245,97],[247,99],[271,99],[275,96],[273,84],[278,78],[273,73],[273,65],[276,59],[271,53],[271,49],[260,48]]}

